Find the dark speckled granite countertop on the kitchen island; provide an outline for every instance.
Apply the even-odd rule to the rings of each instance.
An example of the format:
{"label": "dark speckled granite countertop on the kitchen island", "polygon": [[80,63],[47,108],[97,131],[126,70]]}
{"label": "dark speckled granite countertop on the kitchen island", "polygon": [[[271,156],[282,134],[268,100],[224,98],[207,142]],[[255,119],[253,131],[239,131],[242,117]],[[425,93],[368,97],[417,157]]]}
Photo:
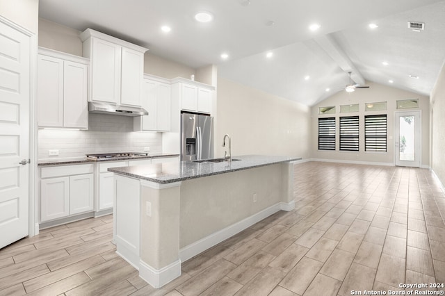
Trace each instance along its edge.
{"label": "dark speckled granite countertop on the kitchen island", "polygon": [[276,163],[287,163],[299,161],[298,157],[287,156],[259,156],[246,155],[236,156],[232,163],[195,163],[193,161],[180,161],[177,163],[158,163],[152,165],[136,165],[129,167],[113,167],[110,172],[129,176],[131,178],[152,181],[154,183],[166,184],[184,181],[188,179],[202,178],[203,176],[213,176],[235,172],[238,170],[248,170],[254,167],[273,165]]}

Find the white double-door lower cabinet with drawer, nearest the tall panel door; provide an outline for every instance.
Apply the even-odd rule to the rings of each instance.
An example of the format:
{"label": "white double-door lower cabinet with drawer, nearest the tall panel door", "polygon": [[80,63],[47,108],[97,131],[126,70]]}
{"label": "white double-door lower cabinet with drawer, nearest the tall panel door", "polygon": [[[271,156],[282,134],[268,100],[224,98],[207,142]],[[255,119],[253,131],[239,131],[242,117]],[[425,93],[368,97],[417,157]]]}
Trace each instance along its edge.
{"label": "white double-door lower cabinet with drawer, nearest the tall panel door", "polygon": [[40,170],[40,222],[94,211],[94,165]]}

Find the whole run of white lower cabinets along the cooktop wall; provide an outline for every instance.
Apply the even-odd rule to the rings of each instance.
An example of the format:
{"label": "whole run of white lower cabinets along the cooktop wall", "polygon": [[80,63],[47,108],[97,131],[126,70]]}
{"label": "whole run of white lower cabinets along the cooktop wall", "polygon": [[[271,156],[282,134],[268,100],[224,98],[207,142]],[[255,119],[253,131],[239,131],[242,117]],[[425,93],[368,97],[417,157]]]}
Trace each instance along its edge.
{"label": "whole run of white lower cabinets along the cooktop wall", "polygon": [[40,222],[113,208],[115,178],[112,172],[108,172],[108,168],[173,161],[179,161],[179,156],[42,167]]}

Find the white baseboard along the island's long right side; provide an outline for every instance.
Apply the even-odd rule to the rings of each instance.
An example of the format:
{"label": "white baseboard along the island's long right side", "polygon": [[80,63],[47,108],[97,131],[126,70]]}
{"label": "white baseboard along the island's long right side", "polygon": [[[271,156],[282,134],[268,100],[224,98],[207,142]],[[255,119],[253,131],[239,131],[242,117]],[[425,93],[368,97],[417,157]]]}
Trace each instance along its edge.
{"label": "white baseboard along the island's long right side", "polygon": [[213,247],[214,245],[218,245],[218,243],[223,240],[227,240],[231,236],[234,236],[236,233],[243,231],[244,229],[252,226],[253,224],[263,220],[264,218],[277,213],[277,211],[292,211],[295,208],[295,201],[289,202],[286,204],[284,202],[280,202],[278,204],[274,204],[268,208],[265,208],[263,211],[260,211],[250,217],[241,220],[240,222],[236,222],[235,224],[226,227],[225,229],[221,229],[216,233],[212,233],[205,238],[197,240],[196,242],[191,243],[190,245],[183,247],[179,250],[179,258],[181,261],[186,261],[197,254],[204,252],[205,250]]}

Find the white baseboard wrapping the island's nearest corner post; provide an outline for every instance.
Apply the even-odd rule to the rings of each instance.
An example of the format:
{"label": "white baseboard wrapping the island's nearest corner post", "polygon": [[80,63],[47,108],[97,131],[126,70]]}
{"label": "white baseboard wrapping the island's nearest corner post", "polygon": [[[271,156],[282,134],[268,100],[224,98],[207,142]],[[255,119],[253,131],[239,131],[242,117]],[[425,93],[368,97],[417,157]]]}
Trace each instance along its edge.
{"label": "white baseboard wrapping the island's nearest corner post", "polygon": [[154,288],[161,288],[165,283],[169,283],[181,275],[181,261],[175,261],[170,265],[156,270],[144,261],[139,261],[139,277],[147,281]]}

